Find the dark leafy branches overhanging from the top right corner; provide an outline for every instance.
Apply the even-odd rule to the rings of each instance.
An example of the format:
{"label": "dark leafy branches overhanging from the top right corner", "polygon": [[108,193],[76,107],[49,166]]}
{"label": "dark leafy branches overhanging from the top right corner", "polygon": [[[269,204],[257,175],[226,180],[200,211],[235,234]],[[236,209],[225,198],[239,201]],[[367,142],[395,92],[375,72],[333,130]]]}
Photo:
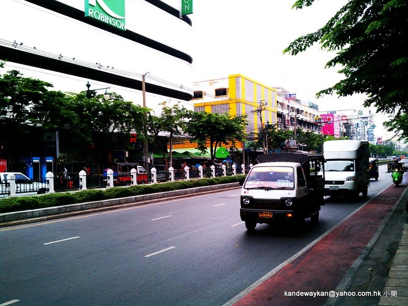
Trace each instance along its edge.
{"label": "dark leafy branches overhanging from the top right corner", "polygon": [[[295,9],[314,0],[297,0]],[[327,67],[340,67],[344,79],[322,89],[316,95],[339,97],[363,93],[364,106],[377,112],[394,114],[386,122],[389,131],[408,139],[406,119],[408,104],[408,2],[406,0],[349,0],[327,23],[314,33],[294,40],[284,53],[296,55],[319,43],[322,49],[335,52]]]}

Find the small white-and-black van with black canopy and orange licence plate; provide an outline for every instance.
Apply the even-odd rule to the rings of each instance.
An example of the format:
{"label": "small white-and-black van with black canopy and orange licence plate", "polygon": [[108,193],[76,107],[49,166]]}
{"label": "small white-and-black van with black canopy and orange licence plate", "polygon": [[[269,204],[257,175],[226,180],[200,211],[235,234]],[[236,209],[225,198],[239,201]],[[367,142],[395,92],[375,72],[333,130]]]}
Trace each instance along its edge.
{"label": "small white-and-black van with black canopy and orange licence plate", "polygon": [[274,153],[257,157],[259,164],[241,181],[241,220],[249,232],[257,223],[278,220],[319,221],[324,205],[324,157],[313,153]]}

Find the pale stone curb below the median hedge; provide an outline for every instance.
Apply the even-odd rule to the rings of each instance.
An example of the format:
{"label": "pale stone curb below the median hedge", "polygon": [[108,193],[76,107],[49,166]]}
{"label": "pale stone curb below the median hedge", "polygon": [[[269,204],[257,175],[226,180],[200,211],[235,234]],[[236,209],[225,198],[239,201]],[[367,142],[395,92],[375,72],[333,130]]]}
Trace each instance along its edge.
{"label": "pale stone curb below the median hedge", "polygon": [[56,206],[35,210],[4,213],[0,214],[0,227],[54,220],[59,218],[71,217],[75,215],[115,210],[123,207],[140,206],[146,203],[156,201],[158,199],[189,197],[197,194],[206,194],[237,188],[241,188],[239,183],[228,183],[221,185],[202,186],[188,189],[165,191],[159,193],[136,195],[117,199],[77,203],[65,206]]}

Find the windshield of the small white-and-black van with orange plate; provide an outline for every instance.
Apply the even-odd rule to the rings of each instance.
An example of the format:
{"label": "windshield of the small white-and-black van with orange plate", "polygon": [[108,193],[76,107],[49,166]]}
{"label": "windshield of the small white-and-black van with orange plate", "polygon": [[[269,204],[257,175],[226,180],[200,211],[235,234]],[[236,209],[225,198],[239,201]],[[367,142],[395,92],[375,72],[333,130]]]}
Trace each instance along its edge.
{"label": "windshield of the small white-and-black van with orange plate", "polygon": [[294,174],[292,167],[265,166],[254,167],[248,174],[246,189],[293,189]]}

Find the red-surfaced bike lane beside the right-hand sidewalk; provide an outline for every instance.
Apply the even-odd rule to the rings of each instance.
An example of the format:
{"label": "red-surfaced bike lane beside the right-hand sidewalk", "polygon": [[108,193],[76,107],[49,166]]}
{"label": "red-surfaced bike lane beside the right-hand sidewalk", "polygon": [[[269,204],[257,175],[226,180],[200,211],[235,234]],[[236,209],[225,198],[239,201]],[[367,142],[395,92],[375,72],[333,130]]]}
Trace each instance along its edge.
{"label": "red-surfaced bike lane beside the right-hand sidewalk", "polygon": [[328,293],[335,290],[392,211],[404,187],[391,185],[382,191],[234,306],[324,304],[327,296],[300,296],[298,292]]}

